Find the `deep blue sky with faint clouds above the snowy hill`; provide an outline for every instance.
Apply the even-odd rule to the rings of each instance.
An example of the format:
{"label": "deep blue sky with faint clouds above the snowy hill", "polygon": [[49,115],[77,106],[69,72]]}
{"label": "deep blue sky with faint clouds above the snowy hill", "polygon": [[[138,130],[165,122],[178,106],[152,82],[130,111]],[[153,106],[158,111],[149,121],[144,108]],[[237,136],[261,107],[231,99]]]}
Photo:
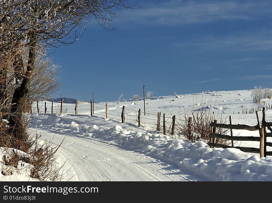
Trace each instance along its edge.
{"label": "deep blue sky with faint clouds above the snowy hill", "polygon": [[62,66],[54,97],[116,101],[272,88],[271,1],[131,1],[108,31],[93,20],[74,44],[50,54]]}

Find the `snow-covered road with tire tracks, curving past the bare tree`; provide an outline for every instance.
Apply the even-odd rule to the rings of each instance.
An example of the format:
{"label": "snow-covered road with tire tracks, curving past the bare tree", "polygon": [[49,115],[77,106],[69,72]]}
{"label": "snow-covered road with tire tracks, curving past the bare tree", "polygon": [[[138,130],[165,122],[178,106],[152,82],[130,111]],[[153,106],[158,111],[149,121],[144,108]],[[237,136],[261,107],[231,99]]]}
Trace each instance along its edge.
{"label": "snow-covered road with tire tracks, curving past the bare tree", "polygon": [[[34,129],[33,129],[34,130]],[[36,131],[37,129],[35,129]],[[57,145],[63,135],[39,129],[43,139],[53,139]],[[72,166],[79,181],[199,181],[201,179],[181,172],[169,164],[142,153],[128,151],[108,141],[66,136],[60,157]],[[65,160],[62,158],[62,160]],[[66,164],[67,165],[67,164]],[[70,176],[73,173],[70,172]]]}

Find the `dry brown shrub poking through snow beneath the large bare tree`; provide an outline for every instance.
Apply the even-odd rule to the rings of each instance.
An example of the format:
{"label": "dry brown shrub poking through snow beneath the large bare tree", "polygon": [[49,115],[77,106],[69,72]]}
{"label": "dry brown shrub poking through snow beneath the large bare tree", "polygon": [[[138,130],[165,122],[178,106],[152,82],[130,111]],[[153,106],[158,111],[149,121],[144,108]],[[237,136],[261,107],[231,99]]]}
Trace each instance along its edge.
{"label": "dry brown shrub poking through snow beneath the large bare tree", "polygon": [[[31,178],[40,181],[61,181],[64,179],[63,165],[56,165],[57,149],[52,140],[40,143],[41,135],[30,135],[27,122],[23,136],[12,134],[6,122],[0,123],[0,146],[3,157],[0,157],[1,173],[12,175],[18,170],[25,171]],[[19,131],[13,131],[19,132]],[[62,141],[63,142],[63,141]],[[23,154],[23,155],[22,155]],[[2,160],[2,161],[1,161]]]}

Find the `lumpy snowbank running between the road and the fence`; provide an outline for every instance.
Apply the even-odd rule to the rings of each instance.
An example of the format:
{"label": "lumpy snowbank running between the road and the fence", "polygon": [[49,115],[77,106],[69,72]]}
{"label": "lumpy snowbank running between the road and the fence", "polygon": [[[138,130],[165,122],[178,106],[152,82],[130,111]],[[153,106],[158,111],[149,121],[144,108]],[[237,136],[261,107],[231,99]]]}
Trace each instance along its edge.
{"label": "lumpy snowbank running between the road and the fence", "polygon": [[[163,162],[178,166],[181,170],[188,170],[203,179],[272,181],[272,160],[270,158],[259,158],[258,154],[252,156],[234,148],[211,149],[203,141],[191,143],[185,139],[172,139],[161,132],[151,132],[141,127],[130,127],[130,130],[127,130],[124,128],[128,125],[97,118],[85,116],[80,118],[81,122],[78,122],[76,116],[35,115],[32,127],[40,127],[40,123],[43,123],[46,129],[52,132],[115,142],[123,149],[158,158]],[[38,120],[39,123],[37,123]],[[53,120],[55,123],[52,123]],[[91,124],[91,120],[99,122],[99,125]],[[104,127],[105,125],[111,127]]]}

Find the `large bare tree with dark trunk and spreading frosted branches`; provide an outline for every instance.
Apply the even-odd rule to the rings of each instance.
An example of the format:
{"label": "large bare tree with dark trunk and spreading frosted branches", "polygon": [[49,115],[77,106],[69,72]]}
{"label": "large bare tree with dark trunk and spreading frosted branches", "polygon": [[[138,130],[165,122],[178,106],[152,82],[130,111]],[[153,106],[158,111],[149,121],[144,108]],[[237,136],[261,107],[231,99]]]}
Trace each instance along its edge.
{"label": "large bare tree with dark trunk and spreading frosted branches", "polygon": [[[23,133],[22,114],[30,94],[32,75],[40,47],[48,49],[52,46],[59,47],[63,44],[74,43],[85,28],[84,25],[91,19],[98,21],[103,28],[112,30],[114,28],[110,22],[116,18],[116,10],[119,8],[131,7],[127,6],[125,0],[6,0],[0,2],[2,26],[0,39],[3,39],[0,52],[4,56],[7,52],[14,56],[8,60],[9,66],[4,66],[0,75],[5,78],[9,73],[9,67],[13,67],[11,72],[15,75],[15,82],[18,85],[11,99],[9,122],[13,128],[11,132],[16,138]],[[17,52],[15,47],[23,47],[23,51]],[[27,52],[26,64],[23,63],[24,51]],[[2,90],[6,89],[5,84],[1,82]]]}

